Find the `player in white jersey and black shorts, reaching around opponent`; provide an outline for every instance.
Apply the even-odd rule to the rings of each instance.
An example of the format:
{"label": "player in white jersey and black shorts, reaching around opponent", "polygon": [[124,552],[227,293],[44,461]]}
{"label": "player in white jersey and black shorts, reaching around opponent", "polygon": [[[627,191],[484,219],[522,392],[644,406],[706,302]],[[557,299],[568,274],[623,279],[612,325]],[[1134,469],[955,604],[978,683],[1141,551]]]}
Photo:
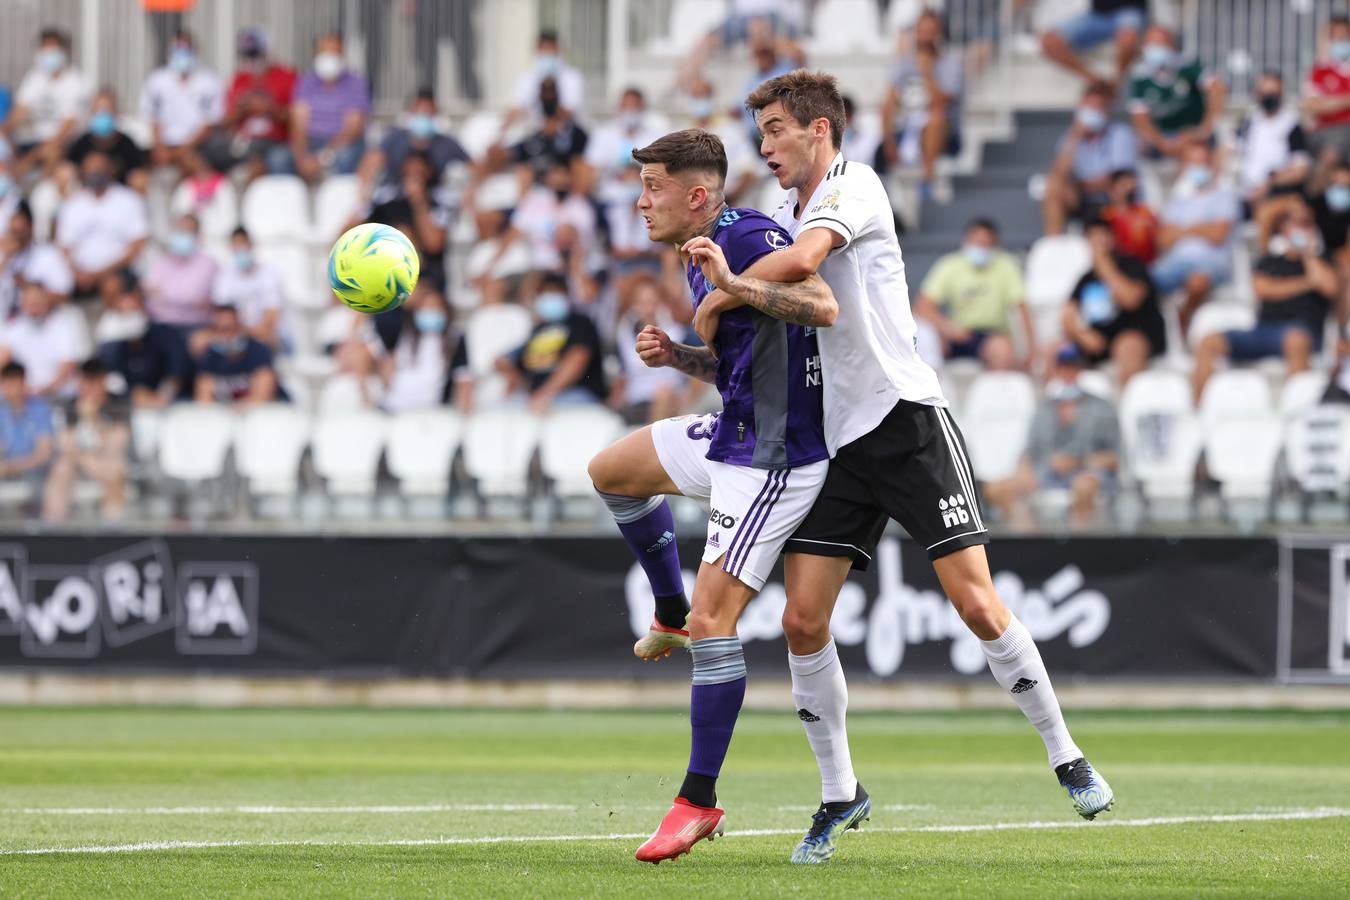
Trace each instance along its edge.
{"label": "player in white jersey and black shorts, reaching around opponent", "polygon": [[[779,76],[760,85],[745,105],[756,113],[760,154],[788,190],[775,220],[795,239],[756,275],[772,282],[819,273],[838,302],[834,325],[818,333],[830,471],[784,560],[783,630],[792,692],[811,712],[810,719],[802,716],[807,737],[814,746],[813,727],[826,731],[848,754],[848,696],[830,614],[849,568],[865,568],[887,518],[894,518],[927,549],[942,590],[980,638],[994,677],[1040,731],[1075,808],[1088,819],[1110,810],[1111,788],[1069,735],[1035,642],[994,590],[984,553],[988,533],[965,444],[937,375],[915,351],[890,200],[872,169],[840,154],[844,104],[834,77],[805,70]],[[767,282],[732,275],[702,239],[686,244],[694,248],[702,248],[703,271],[720,289],[699,306],[701,333],[740,304],[764,309]],[[798,321],[807,310],[782,302],[767,312]],[[828,664],[819,671],[837,671],[815,683],[814,695],[799,685],[798,671],[814,667],[799,667],[803,657],[824,657]],[[826,818],[821,841],[828,842],[829,803],[821,814]],[[807,834],[805,843],[811,839]]]}

